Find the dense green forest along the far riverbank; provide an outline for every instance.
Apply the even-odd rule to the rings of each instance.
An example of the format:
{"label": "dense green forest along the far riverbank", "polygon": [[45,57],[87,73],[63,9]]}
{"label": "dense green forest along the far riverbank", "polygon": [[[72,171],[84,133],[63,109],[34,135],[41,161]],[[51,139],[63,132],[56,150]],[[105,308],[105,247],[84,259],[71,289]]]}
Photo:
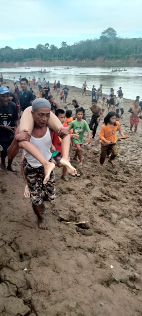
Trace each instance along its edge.
{"label": "dense green forest along the far riverbank", "polygon": [[84,40],[74,45],[62,42],[60,48],[46,43],[38,44],[36,48],[12,49],[6,46],[0,49],[0,63],[26,62],[35,59],[49,62],[54,60],[81,62],[86,59],[93,61],[101,58],[108,61],[122,59],[127,64],[132,57],[133,60],[139,59],[139,64],[142,61],[142,38],[117,37],[116,31],[111,27],[103,31],[99,39]]}

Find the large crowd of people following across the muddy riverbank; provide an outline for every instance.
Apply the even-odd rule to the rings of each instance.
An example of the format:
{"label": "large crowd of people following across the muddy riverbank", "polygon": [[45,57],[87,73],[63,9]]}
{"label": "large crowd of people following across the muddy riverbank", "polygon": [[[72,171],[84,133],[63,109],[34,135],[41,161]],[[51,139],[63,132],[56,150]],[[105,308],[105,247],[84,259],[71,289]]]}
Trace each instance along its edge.
{"label": "large crowd of people following across the muddy riverbank", "polygon": [[[3,79],[2,74],[1,78]],[[82,166],[84,133],[85,131],[88,133],[87,143],[90,144],[91,131],[94,138],[102,117],[104,117],[104,125],[97,138],[98,142],[101,141],[100,167],[103,166],[106,156],[112,167],[115,167],[116,132],[119,131],[120,138],[128,137],[121,131],[119,122],[124,114],[123,92],[120,87],[116,97],[114,89],[110,88],[105,102],[105,97],[102,96],[102,84],[98,89],[93,85],[90,100],[92,117],[87,123],[86,110],[76,99],[67,103],[69,88],[65,85],[61,89],[59,80],[58,82],[55,80],[52,88],[45,78],[41,82],[40,78],[36,81],[34,76],[33,79],[20,76],[21,89],[18,88],[15,77],[13,83],[15,89],[13,92],[9,91],[9,86],[5,87],[1,84],[0,87],[0,167],[6,169],[5,158],[8,155],[7,169],[15,172],[12,161],[19,149],[23,149],[21,171],[25,181],[24,195],[31,198],[39,228],[48,229],[42,211],[45,207],[44,201],[51,202],[55,198],[54,168],[62,167],[61,179],[64,181],[68,181],[67,171],[72,176],[80,176],[69,161],[70,143],[76,149],[74,160]],[[38,95],[33,90],[36,86],[38,86]],[[63,108],[54,99],[50,88],[60,97],[60,103],[62,100],[66,103]],[[86,88],[88,87],[85,81],[82,86],[85,95]],[[72,114],[71,109],[68,109],[69,105],[74,106],[75,115]],[[105,116],[104,111],[107,113]],[[139,96],[136,97],[129,112],[130,130],[132,131],[135,125],[135,134],[139,118],[142,118],[142,101],[139,102]]]}

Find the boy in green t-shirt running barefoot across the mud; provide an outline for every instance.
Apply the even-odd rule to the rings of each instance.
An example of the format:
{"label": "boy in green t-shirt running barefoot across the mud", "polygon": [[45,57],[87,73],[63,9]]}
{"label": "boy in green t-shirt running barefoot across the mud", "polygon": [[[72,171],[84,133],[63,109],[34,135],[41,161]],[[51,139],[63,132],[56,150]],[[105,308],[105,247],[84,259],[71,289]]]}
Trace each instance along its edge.
{"label": "boy in green t-shirt running barefoot across the mud", "polygon": [[88,132],[88,144],[91,143],[90,128],[87,122],[84,119],[82,119],[82,117],[83,117],[82,109],[80,108],[76,109],[76,119],[73,122],[71,122],[71,124],[68,127],[69,130],[73,128],[73,134],[79,135],[78,139],[73,137],[73,142],[76,147],[74,159],[79,162],[80,166],[82,166],[81,146],[83,143],[83,136],[84,136],[85,131]]}

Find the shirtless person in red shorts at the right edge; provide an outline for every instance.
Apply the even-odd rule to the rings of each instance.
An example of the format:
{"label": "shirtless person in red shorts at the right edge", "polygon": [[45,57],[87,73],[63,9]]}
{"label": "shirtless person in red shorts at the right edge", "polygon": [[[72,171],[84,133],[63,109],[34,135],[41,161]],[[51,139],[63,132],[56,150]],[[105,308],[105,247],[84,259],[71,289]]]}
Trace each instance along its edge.
{"label": "shirtless person in red shorts at the right edge", "polygon": [[135,125],[135,129],[134,129],[134,135],[135,135],[136,131],[137,131],[138,124],[139,124],[139,116],[138,116],[138,114],[141,113],[141,107],[139,106],[139,101],[137,99],[135,100],[134,105],[132,105],[130,107],[128,112],[131,113],[131,116],[130,116],[130,131],[132,131],[132,127],[133,127],[133,125]]}

